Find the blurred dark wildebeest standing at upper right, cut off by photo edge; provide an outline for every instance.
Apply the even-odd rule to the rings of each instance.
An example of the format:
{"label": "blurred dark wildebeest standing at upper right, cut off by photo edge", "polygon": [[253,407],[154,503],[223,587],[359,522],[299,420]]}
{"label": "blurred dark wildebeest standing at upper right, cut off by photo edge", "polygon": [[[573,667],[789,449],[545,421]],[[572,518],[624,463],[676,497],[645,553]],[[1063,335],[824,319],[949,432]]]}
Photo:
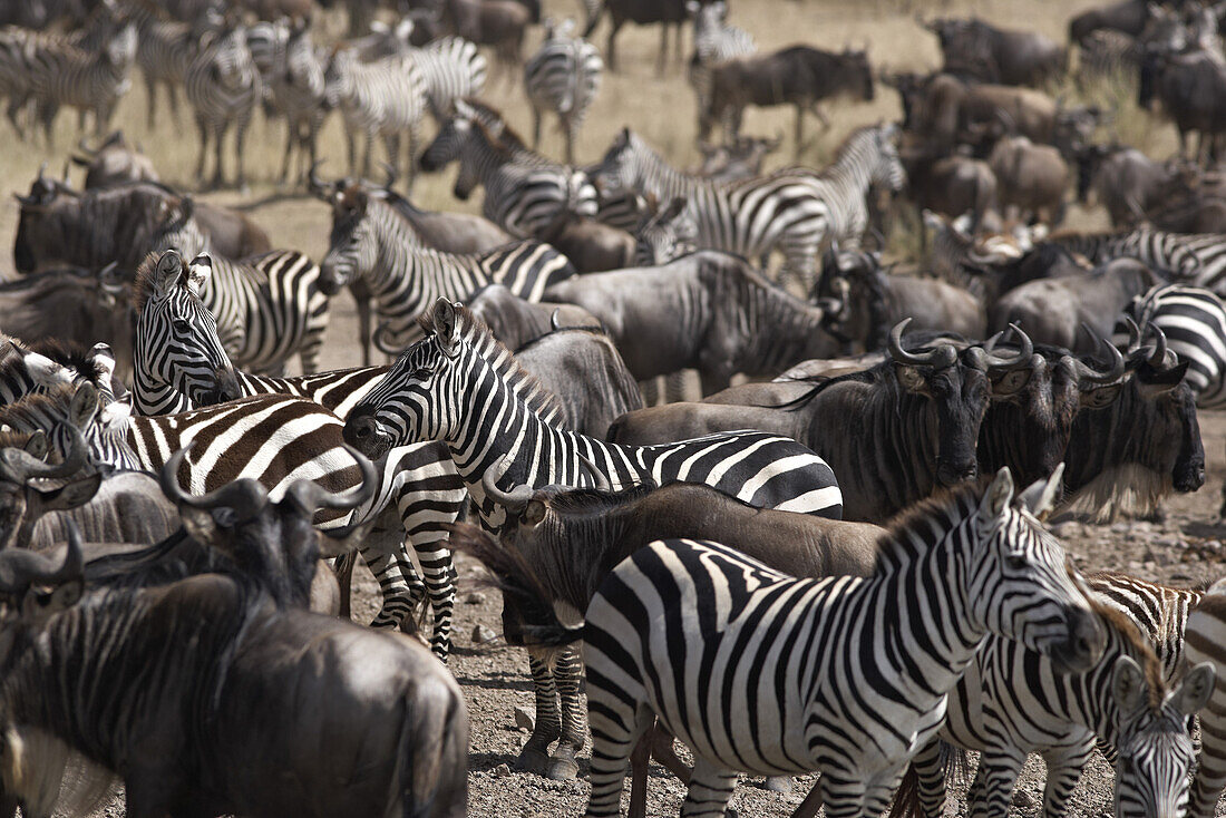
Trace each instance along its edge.
{"label": "blurred dark wildebeest standing at upper right, cut off by photo edge", "polygon": [[1197,161],[1216,158],[1215,139],[1226,131],[1226,63],[1209,50],[1145,54],[1137,102],[1154,109],[1154,101],[1179,132],[1179,157],[1188,156],[1188,134],[1199,134]]}

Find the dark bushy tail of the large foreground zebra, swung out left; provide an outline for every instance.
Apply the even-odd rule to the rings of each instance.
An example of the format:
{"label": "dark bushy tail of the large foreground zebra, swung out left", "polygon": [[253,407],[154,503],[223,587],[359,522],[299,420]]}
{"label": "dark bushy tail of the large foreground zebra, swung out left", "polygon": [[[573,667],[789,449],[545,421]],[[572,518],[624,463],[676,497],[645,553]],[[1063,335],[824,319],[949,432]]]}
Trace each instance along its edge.
{"label": "dark bushy tail of the large foreground zebra, swung out left", "polygon": [[555,605],[568,613],[574,607],[547,590],[537,568],[530,565],[519,551],[504,548],[479,527],[467,522],[450,525],[447,530],[451,532],[447,543],[451,549],[479,559],[493,574],[490,584],[515,605],[522,618],[520,633],[525,645],[560,648],[584,638],[581,621],[574,625],[563,624],[555,611]]}

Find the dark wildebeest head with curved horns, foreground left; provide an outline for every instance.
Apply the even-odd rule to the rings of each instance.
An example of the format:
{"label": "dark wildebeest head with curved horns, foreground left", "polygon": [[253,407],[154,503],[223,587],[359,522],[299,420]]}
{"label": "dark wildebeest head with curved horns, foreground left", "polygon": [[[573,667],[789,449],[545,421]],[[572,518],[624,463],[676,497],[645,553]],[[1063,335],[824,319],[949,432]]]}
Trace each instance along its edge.
{"label": "dark wildebeest head with curved horns, foreground left", "polygon": [[188,533],[234,560],[278,602],[306,607],[318,560],[348,553],[367,529],[359,519],[338,531],[320,531],[314,519],[327,510],[353,511],[374,497],[374,465],[349,449],[362,482],[341,493],[298,480],[273,503],[264,486],[244,477],[197,497],[179,487],[179,471],[190,448],[174,453],[159,476],[162,491],[179,506]]}

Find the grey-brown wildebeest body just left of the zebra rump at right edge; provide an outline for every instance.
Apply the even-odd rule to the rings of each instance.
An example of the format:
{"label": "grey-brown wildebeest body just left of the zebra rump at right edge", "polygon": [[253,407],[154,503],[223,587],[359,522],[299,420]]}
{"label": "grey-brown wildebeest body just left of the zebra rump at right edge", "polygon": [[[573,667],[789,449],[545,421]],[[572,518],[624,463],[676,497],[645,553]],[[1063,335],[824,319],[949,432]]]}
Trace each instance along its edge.
{"label": "grey-brown wildebeest body just left of the zebra rump at right edge", "polygon": [[[1024,326],[1038,343],[1091,353],[1097,338],[1111,337],[1116,320],[1137,296],[1162,283],[1135,259],[1116,259],[1076,276],[1040,278],[1014,287],[988,308],[988,329]],[[1092,336],[1081,325],[1094,330]]]}

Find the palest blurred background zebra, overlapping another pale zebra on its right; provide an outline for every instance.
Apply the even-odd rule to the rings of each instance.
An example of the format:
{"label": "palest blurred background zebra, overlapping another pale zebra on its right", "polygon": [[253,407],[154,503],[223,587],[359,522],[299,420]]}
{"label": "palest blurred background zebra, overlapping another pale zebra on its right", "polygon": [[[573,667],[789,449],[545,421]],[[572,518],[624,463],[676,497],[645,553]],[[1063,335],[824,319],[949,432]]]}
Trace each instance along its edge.
{"label": "palest blurred background zebra, overlapping another pale zebra on its right", "polygon": [[408,55],[385,56],[360,63],[353,49],[335,52],[324,70],[330,108],[345,118],[349,173],[357,173],[357,134],[367,135],[362,175],[370,175],[370,150],[381,136],[387,163],[400,170],[400,137],[408,135],[408,179],[412,184],[418,129],[425,115],[427,96],[417,61]]}

